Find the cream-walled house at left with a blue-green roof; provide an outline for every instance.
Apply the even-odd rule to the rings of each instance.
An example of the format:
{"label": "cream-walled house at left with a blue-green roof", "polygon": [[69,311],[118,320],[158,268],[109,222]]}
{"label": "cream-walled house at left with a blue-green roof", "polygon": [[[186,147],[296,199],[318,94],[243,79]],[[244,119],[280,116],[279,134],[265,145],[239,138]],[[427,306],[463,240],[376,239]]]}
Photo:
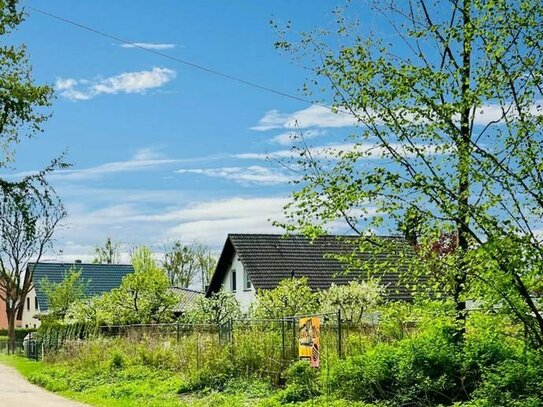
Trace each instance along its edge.
{"label": "cream-walled house at left with a blue-green roof", "polygon": [[[29,267],[33,267],[31,264]],[[100,295],[121,285],[123,277],[134,271],[131,264],[94,264],[81,263],[38,263],[34,268],[34,288],[25,299],[22,315],[23,328],[38,328],[37,315],[47,312],[47,297],[41,288],[45,278],[51,283],[60,283],[67,272],[75,267],[81,270],[81,281],[86,283],[87,296]]]}

